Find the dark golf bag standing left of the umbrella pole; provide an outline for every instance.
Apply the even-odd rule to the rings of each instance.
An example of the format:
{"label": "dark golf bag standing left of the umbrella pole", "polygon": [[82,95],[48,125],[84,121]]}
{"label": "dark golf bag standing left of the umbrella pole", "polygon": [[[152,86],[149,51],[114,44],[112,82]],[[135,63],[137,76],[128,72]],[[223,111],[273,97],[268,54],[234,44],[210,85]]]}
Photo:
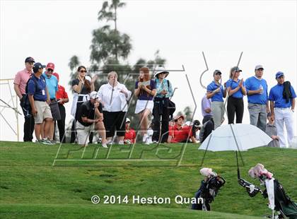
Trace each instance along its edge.
{"label": "dark golf bag standing left of the umbrella pole", "polygon": [[[206,176],[195,194],[197,203],[192,204],[192,210],[211,211],[210,203],[214,201],[214,198],[219,193],[219,189],[223,187],[225,182],[225,179],[217,175],[216,172],[211,172],[209,176]],[[200,200],[202,200],[202,202],[200,202]]]}

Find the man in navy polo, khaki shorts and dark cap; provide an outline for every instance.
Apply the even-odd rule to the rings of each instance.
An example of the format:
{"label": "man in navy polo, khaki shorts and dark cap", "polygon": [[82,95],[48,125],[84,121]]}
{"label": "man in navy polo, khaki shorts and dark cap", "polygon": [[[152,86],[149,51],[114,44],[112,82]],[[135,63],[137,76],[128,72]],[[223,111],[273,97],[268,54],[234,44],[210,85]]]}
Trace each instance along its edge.
{"label": "man in navy polo, khaki shorts and dark cap", "polygon": [[[39,62],[35,63],[33,66],[34,75],[28,82],[28,94],[29,101],[32,109],[32,114],[35,119],[35,136],[37,142],[52,144],[50,141],[50,126],[52,124],[52,113],[50,111],[50,95],[47,90],[47,83],[45,77],[42,76],[42,71],[45,68],[44,65]],[[43,126],[43,135],[44,138],[41,138],[42,133],[42,122]]]}

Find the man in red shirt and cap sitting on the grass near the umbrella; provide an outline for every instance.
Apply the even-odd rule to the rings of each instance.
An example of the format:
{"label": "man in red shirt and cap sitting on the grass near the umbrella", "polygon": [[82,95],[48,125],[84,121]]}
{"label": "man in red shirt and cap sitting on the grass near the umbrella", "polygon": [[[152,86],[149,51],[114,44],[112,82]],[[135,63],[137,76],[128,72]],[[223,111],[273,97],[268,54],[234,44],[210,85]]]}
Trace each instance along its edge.
{"label": "man in red shirt and cap sitting on the grass near the umbrella", "polygon": [[173,118],[173,120],[175,121],[175,125],[170,126],[168,143],[187,142],[189,141],[189,138],[191,138],[193,143],[197,143],[195,137],[196,131],[200,127],[199,121],[194,121],[196,123],[194,123],[193,125],[196,125],[196,127],[194,126],[194,130],[192,130],[192,126],[182,126],[185,120],[185,117],[183,115],[177,115]]}

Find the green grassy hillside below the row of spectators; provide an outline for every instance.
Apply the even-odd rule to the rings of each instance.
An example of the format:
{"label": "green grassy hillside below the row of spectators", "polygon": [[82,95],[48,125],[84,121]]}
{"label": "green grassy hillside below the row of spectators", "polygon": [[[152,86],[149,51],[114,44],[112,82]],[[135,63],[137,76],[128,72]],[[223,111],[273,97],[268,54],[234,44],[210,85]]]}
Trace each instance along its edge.
{"label": "green grassy hillside below the row of spectators", "polygon": [[[197,150],[197,145],[188,144],[181,161],[181,144],[161,146],[158,155],[153,146],[136,145],[133,161],[121,160],[129,157],[129,148],[113,146],[107,161],[106,149],[100,148],[94,160],[96,146],[91,145],[80,160],[83,150],[66,144],[52,166],[58,148],[0,142],[0,218],[250,218],[244,215],[270,213],[267,199],[260,194],[250,198],[238,185],[235,153],[231,151],[206,153],[203,166],[221,174],[226,185],[211,203],[214,212],[205,213],[174,202],[176,195],[192,197],[199,188],[204,151]],[[247,172],[261,162],[297,200],[297,150],[255,148],[242,155],[245,165],[240,166],[240,172],[245,179],[259,184]],[[93,204],[93,195],[101,199],[104,195],[127,195],[130,203]],[[133,195],[169,197],[171,203],[133,204]]]}

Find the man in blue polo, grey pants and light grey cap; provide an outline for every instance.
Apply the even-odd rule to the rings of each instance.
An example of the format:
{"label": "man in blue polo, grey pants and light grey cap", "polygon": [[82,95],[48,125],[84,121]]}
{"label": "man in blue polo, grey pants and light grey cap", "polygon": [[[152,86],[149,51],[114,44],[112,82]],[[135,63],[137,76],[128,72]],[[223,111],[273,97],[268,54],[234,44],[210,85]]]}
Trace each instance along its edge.
{"label": "man in blue polo, grey pants and light grey cap", "polygon": [[255,76],[245,81],[248,93],[248,112],[250,112],[250,124],[266,131],[266,118],[269,112],[267,82],[262,78],[263,66],[255,66]]}

